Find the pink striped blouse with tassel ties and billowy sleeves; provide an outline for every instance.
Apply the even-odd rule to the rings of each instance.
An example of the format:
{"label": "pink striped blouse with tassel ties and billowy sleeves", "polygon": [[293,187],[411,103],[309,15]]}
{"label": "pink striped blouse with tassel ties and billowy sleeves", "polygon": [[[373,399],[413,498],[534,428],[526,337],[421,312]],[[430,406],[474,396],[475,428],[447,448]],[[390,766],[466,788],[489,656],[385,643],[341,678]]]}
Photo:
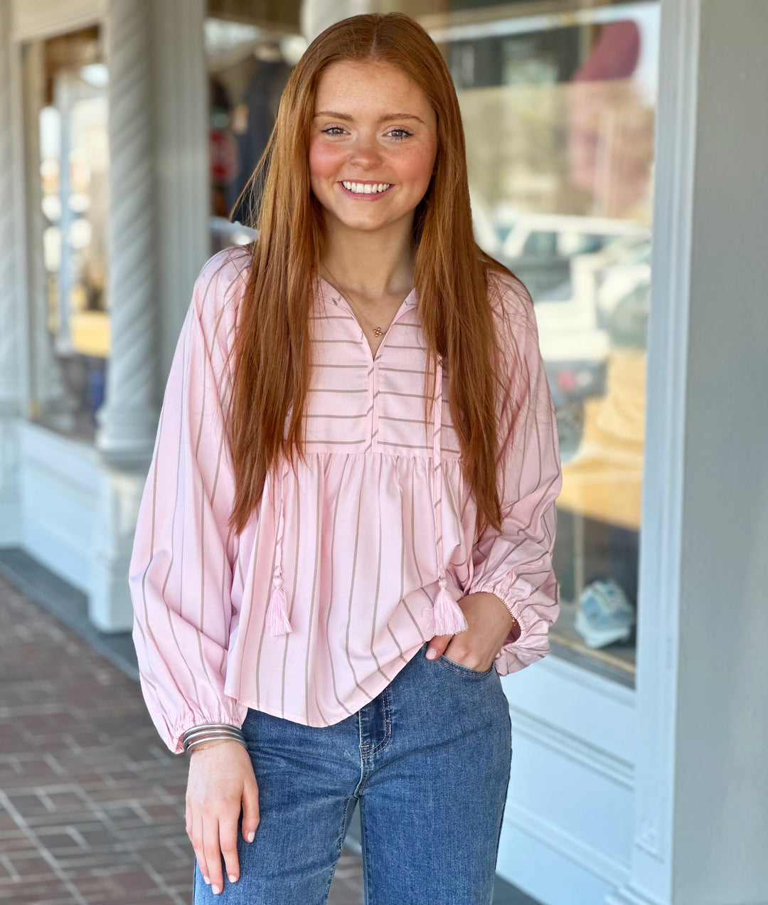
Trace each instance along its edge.
{"label": "pink striped blouse with tassel ties and billowy sleeves", "polygon": [[500,533],[487,529],[473,546],[477,508],[440,368],[425,430],[415,291],[372,357],[346,300],[325,281],[311,312],[307,461],[268,479],[239,536],[227,529],[232,364],[224,359],[248,262],[244,249],[225,249],[195,282],[130,561],[141,688],[174,753],[186,729],[240,727],[249,707],[309,726],[345,719],[435,633],[466,627],[462,595],[498,595],[520,624],[517,642],[510,633],[497,654],[501,675],[548,653],[559,613],[555,409],[519,282],[504,283],[501,313],[510,317],[498,321],[523,362],[517,414],[505,420],[499,411],[502,439],[514,437],[499,463]]}

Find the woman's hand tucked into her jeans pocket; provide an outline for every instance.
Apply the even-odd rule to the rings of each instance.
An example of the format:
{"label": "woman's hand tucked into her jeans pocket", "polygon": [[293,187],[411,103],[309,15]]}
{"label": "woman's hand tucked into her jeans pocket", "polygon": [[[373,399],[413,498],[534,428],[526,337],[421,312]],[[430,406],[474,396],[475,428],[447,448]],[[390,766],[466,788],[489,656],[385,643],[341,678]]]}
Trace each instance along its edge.
{"label": "woman's hand tucked into her jeans pocket", "polygon": [[[485,672],[507,640],[515,621],[495,594],[468,594],[459,601],[469,628],[458,634],[436,634],[427,648],[427,659],[441,654],[471,670]],[[519,632],[519,629],[517,629]],[[431,651],[435,653],[431,655]]]}

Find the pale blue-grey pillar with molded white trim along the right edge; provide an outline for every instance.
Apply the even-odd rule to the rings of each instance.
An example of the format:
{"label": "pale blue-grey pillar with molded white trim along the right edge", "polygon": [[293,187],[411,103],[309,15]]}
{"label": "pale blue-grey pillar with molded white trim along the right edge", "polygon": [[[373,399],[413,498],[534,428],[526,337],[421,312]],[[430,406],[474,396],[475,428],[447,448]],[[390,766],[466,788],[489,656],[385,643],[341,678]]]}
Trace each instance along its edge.
{"label": "pale blue-grey pillar with molded white trim along the right edge", "polygon": [[768,901],[768,4],[661,4],[631,876]]}

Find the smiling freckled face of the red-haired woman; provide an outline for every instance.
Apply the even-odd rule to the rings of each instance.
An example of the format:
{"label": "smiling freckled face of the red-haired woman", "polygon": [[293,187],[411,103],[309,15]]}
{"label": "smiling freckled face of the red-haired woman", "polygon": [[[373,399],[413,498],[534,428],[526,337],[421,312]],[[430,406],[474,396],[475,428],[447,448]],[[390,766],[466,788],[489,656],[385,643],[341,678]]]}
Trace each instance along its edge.
{"label": "smiling freckled face of the red-haired woman", "polygon": [[435,112],[402,70],[385,62],[340,61],[323,72],[309,174],[327,220],[365,232],[398,222],[410,226],[436,152]]}

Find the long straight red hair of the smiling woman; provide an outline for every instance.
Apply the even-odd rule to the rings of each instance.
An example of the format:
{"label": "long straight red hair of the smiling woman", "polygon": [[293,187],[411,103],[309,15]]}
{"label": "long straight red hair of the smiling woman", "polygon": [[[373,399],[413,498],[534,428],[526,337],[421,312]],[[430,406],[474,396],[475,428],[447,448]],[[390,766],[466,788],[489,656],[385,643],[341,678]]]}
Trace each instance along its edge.
{"label": "long straight red hair of the smiling woman", "polygon": [[[491,307],[498,281],[490,277],[494,271],[514,275],[474,240],[464,132],[450,71],[429,34],[402,13],[352,16],[315,38],[290,75],[267,148],[243,190],[241,197],[258,199],[250,224],[259,235],[249,246],[232,345],[228,433],[236,491],[230,525],[242,531],[281,458],[294,462],[294,452],[305,455],[309,311],[324,251],[322,208],[309,188],[310,126],[318,81],[330,63],[341,60],[399,67],[437,114],[434,173],[413,219],[415,288],[427,347],[424,420],[430,417],[439,354],[449,376],[462,474],[477,502],[477,532],[487,525],[500,529],[499,394],[508,397],[509,387]],[[512,352],[506,349],[505,355]]]}

